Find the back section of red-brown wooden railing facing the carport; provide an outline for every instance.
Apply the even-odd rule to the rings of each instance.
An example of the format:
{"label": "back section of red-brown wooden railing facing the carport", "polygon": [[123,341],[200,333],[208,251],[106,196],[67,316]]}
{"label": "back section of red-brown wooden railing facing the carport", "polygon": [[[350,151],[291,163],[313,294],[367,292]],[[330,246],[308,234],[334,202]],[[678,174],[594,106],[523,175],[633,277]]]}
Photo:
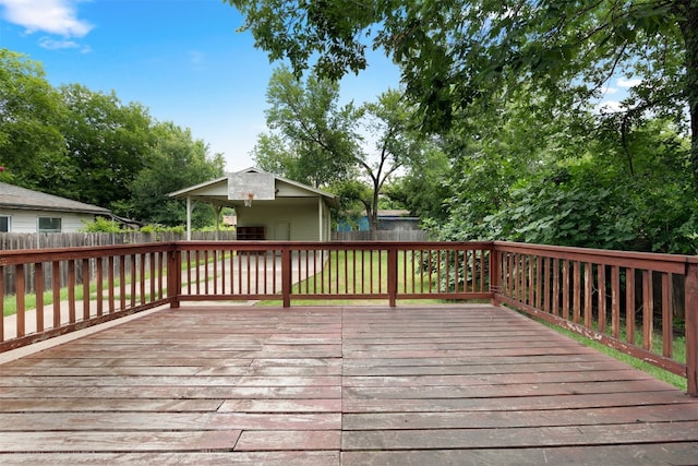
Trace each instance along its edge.
{"label": "back section of red-brown wooden railing facing the carport", "polygon": [[[486,242],[180,242],[176,300],[491,299]],[[205,266],[203,264],[206,264]],[[174,296],[172,291],[171,296]]]}

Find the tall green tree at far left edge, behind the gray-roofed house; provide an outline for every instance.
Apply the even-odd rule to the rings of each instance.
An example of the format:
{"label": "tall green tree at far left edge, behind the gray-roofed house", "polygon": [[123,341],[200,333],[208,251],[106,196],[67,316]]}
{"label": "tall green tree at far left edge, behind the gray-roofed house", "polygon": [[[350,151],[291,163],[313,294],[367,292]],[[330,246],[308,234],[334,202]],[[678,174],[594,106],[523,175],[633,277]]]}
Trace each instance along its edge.
{"label": "tall green tree at far left edge, behind the gray-roofed house", "polygon": [[59,130],[64,107],[40,64],[0,49],[0,166],[3,179],[41,191],[73,176]]}

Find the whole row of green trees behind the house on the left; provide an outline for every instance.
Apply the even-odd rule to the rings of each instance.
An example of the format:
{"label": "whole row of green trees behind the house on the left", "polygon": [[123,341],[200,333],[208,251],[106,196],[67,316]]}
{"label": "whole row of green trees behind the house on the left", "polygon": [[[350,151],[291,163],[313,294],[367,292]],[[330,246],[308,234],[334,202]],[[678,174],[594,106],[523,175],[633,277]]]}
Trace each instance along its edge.
{"label": "whole row of green trees behind the house on the left", "polygon": [[[140,104],[80,84],[53,88],[39,63],[0,49],[2,181],[181,225],[185,207],[167,193],[218,178],[224,165],[189,130],[153,120]],[[210,207],[196,205],[193,225],[213,222]]]}

